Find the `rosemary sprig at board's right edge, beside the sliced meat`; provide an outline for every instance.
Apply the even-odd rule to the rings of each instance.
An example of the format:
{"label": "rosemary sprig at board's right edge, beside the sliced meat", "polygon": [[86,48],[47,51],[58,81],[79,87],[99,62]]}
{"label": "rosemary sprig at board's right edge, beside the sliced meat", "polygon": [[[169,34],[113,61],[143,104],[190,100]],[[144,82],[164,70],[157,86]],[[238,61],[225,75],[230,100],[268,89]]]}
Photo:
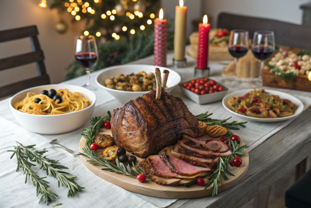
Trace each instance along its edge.
{"label": "rosemary sprig at board's right edge, beside the sliced meat", "polygon": [[245,155],[243,152],[241,152],[243,149],[248,148],[248,146],[243,145],[241,147],[239,147],[239,144],[234,141],[234,143],[230,144],[230,150],[232,152],[232,155],[230,157],[220,157],[220,159],[217,161],[217,168],[212,170],[213,174],[211,174],[211,176],[208,178],[208,180],[210,180],[210,182],[207,184],[207,186],[204,189],[207,189],[207,187],[209,185],[211,185],[211,188],[213,188],[213,194],[212,196],[215,196],[218,193],[218,186],[217,186],[217,182],[220,182],[220,186],[222,186],[222,182],[221,182],[221,176],[226,180],[228,180],[229,178],[226,176],[226,173],[230,176],[234,176],[232,173],[230,173],[227,169],[228,169],[228,164],[229,161],[234,159],[234,156],[237,155]]}

